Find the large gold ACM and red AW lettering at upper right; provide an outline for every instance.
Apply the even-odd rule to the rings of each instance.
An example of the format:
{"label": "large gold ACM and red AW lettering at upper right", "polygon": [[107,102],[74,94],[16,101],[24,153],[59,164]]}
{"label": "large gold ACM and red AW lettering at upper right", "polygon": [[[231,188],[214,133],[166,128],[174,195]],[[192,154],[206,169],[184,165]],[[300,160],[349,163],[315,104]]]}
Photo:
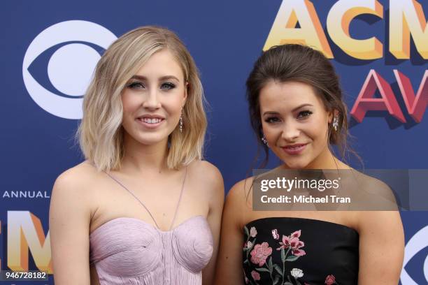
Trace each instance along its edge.
{"label": "large gold ACM and red AW lettering at upper right", "polygon": [[[386,1],[385,1],[386,2]],[[374,19],[389,16],[389,41],[387,52],[394,59],[411,58],[411,38],[422,59],[428,59],[428,29],[427,20],[421,4],[415,0],[390,0],[389,9],[384,12],[383,6],[377,0],[340,0],[331,6],[327,15],[327,33],[345,54],[359,60],[375,60],[384,56],[383,45],[376,36],[367,31],[367,38],[356,39],[350,35],[350,24],[357,16],[364,15]],[[299,24],[299,28],[297,28]],[[334,54],[327,41],[327,36],[315,10],[309,0],[283,0],[273,22],[271,31],[264,45],[264,50],[273,45],[284,43],[303,43],[322,51],[326,57],[333,59]],[[385,43],[386,44],[386,43]],[[369,71],[364,85],[357,96],[350,115],[362,122],[368,111],[387,111],[401,123],[406,123],[404,111],[419,123],[428,105],[428,71],[422,74],[420,87],[413,90],[411,80],[400,71],[392,71],[399,86],[399,93],[392,91],[388,83],[375,70]],[[376,91],[380,98],[376,98]],[[404,109],[397,101],[402,96]]]}

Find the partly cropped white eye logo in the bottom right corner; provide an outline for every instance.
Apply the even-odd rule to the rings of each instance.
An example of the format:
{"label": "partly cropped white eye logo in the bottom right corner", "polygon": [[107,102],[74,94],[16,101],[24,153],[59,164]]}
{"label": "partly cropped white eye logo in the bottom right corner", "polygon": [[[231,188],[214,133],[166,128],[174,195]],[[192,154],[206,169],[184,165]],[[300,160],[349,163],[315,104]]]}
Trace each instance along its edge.
{"label": "partly cropped white eye logo in the bottom right corner", "polygon": [[[413,256],[418,254],[419,251],[422,249],[425,249],[425,247],[428,247],[428,226],[425,226],[425,228],[420,229],[418,233],[415,233],[413,237],[407,242],[406,249],[404,251],[404,263],[403,263],[403,270],[401,270],[401,284],[403,285],[418,285],[410,275],[406,272],[406,265],[408,261],[410,261]],[[419,270],[419,268],[418,268]],[[424,277],[426,279],[426,282],[428,282],[428,256],[425,258],[424,265],[423,265],[423,273]]]}

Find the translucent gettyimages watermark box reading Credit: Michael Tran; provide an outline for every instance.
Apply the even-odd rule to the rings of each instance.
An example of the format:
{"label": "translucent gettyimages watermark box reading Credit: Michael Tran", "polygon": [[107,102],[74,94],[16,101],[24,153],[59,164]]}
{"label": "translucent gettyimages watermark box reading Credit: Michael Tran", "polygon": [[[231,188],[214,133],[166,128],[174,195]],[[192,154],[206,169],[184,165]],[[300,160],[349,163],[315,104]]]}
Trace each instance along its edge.
{"label": "translucent gettyimages watermark box reading Credit: Michael Tran", "polygon": [[428,170],[276,168],[253,174],[253,210],[428,210]]}

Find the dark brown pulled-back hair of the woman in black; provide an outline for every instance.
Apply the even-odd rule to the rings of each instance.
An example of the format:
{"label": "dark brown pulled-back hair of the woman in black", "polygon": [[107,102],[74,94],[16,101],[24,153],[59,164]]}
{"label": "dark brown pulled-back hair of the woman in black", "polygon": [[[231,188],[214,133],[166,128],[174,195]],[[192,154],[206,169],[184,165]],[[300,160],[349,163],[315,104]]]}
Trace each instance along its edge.
{"label": "dark brown pulled-back hair of the woman in black", "polygon": [[269,148],[260,140],[263,133],[259,94],[262,88],[271,80],[278,82],[297,81],[311,85],[315,90],[315,94],[322,99],[327,111],[338,111],[337,131],[329,124],[329,149],[331,150],[330,145],[337,145],[342,159],[345,159],[347,151],[355,154],[359,159],[359,156],[347,144],[349,135],[348,119],[346,117],[347,108],[343,102],[338,76],[330,61],[324,57],[322,52],[306,45],[276,45],[257,59],[247,79],[247,100],[251,126],[255,131],[259,145],[262,145],[266,154],[262,162],[262,168],[266,166],[269,159]]}

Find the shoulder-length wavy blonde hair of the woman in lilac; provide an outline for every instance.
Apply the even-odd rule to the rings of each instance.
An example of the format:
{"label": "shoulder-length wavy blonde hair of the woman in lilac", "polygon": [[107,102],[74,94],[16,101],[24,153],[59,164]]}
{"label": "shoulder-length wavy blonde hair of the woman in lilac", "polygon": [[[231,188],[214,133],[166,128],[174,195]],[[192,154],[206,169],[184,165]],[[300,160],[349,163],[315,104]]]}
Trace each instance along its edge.
{"label": "shoulder-length wavy blonde hair of the woman in lilac", "polygon": [[187,84],[183,133],[169,135],[168,168],[178,169],[203,158],[206,115],[204,92],[194,60],[178,36],[161,27],[139,27],[108,47],[99,60],[83,100],[77,138],[85,158],[99,170],[120,168],[124,156],[121,94],[128,80],[160,50],[169,50],[180,64]]}

